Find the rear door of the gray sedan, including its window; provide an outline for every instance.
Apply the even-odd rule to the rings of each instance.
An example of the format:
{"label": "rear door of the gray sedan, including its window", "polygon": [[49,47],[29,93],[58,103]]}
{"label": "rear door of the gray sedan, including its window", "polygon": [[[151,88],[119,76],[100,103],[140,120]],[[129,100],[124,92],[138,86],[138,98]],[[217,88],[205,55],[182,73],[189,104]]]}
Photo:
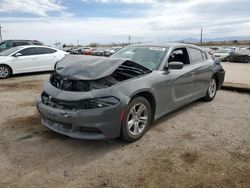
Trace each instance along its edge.
{"label": "rear door of the gray sedan, including its window", "polygon": [[194,99],[205,96],[213,75],[213,63],[199,49],[188,48],[191,65],[194,68]]}

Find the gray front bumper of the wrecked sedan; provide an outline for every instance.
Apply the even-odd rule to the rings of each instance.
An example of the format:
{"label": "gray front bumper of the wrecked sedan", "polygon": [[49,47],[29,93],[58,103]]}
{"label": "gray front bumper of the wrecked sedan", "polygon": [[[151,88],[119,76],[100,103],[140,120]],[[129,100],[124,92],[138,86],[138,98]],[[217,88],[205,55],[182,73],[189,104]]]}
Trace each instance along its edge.
{"label": "gray front bumper of the wrecked sedan", "polygon": [[42,124],[49,129],[79,139],[110,139],[120,135],[123,105],[91,110],[61,110],[42,103],[37,98]]}

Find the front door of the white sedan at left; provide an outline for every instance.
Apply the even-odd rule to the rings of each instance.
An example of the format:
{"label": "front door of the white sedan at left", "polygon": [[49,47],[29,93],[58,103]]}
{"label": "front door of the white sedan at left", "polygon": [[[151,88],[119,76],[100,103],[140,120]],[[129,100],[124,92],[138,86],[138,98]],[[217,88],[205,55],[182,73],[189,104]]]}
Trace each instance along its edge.
{"label": "front door of the white sedan at left", "polygon": [[[17,53],[20,53],[20,56],[15,57]],[[34,72],[38,70],[36,48],[25,48],[15,54],[13,55],[13,66],[16,73]]]}

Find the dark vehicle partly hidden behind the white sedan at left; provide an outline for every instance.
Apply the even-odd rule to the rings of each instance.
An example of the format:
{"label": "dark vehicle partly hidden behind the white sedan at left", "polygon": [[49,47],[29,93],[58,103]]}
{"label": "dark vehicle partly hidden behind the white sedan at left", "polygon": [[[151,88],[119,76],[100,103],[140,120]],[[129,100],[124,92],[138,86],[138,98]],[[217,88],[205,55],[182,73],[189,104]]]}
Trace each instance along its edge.
{"label": "dark vehicle partly hidden behind the white sedan at left", "polygon": [[24,45],[43,45],[43,43],[37,40],[4,40],[0,43],[0,52],[9,48]]}

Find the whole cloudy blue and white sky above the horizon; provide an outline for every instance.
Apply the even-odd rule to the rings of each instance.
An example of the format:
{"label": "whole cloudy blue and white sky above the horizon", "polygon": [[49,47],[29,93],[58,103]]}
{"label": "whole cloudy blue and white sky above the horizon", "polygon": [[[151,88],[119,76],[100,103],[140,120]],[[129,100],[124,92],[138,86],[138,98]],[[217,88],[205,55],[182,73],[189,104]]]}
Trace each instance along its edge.
{"label": "whole cloudy blue and white sky above the horizon", "polygon": [[0,0],[3,39],[46,44],[250,36],[249,0]]}

